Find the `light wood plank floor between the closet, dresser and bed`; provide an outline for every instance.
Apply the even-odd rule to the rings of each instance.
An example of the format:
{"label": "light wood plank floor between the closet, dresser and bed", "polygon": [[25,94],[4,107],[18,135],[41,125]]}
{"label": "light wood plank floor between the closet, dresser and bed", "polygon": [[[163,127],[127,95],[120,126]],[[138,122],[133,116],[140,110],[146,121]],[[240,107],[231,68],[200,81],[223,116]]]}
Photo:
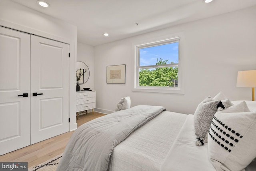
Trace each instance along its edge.
{"label": "light wood plank floor between the closet, dresser and bed", "polygon": [[[94,115],[92,115],[92,113],[79,115],[78,120],[76,120],[76,122],[79,127],[83,123],[86,123],[92,119],[104,115],[105,114],[103,113],[98,113],[94,111]],[[50,139],[46,139],[44,141],[30,145],[28,147],[12,151],[5,155],[1,155],[0,161],[28,162],[28,167],[38,165],[56,155],[59,155],[60,153],[63,153],[72,133],[73,131],[63,133],[61,135],[52,137]]]}

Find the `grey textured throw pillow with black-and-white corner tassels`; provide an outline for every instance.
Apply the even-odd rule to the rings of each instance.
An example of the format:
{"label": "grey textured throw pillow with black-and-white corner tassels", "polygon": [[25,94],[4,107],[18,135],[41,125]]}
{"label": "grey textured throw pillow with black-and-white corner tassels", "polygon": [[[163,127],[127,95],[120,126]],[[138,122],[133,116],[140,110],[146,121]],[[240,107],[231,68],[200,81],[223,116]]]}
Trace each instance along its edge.
{"label": "grey textured throw pillow with black-and-white corner tassels", "polygon": [[194,130],[196,134],[196,145],[207,143],[207,132],[211,125],[212,117],[217,111],[219,100],[213,100],[210,96],[204,99],[194,113]]}

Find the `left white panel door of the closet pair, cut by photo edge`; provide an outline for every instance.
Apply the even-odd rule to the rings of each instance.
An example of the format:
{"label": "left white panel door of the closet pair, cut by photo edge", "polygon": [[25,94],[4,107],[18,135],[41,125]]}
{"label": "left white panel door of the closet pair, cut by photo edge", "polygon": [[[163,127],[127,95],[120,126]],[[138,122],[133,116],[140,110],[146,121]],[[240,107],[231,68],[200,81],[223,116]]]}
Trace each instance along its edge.
{"label": "left white panel door of the closet pair, cut by photo edge", "polygon": [[29,94],[30,34],[0,27],[0,155],[30,145]]}

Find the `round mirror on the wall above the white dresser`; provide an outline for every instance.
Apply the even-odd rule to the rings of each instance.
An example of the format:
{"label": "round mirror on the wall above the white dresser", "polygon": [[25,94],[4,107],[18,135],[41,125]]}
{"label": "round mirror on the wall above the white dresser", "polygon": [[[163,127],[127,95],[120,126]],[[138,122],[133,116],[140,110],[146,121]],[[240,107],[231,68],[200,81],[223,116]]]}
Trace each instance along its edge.
{"label": "round mirror on the wall above the white dresser", "polygon": [[77,61],[76,62],[76,79],[77,80],[79,79],[78,84],[86,83],[89,77],[90,77],[90,70],[88,66],[84,64],[84,62]]}

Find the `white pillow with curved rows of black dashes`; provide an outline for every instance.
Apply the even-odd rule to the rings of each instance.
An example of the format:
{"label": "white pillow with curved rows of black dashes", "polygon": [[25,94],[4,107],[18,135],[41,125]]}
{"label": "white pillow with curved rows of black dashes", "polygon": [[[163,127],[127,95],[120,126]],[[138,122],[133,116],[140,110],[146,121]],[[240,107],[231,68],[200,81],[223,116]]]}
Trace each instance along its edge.
{"label": "white pillow with curved rows of black dashes", "polygon": [[216,170],[241,171],[256,157],[256,112],[240,112],[248,110],[242,102],[214,115],[208,156]]}

